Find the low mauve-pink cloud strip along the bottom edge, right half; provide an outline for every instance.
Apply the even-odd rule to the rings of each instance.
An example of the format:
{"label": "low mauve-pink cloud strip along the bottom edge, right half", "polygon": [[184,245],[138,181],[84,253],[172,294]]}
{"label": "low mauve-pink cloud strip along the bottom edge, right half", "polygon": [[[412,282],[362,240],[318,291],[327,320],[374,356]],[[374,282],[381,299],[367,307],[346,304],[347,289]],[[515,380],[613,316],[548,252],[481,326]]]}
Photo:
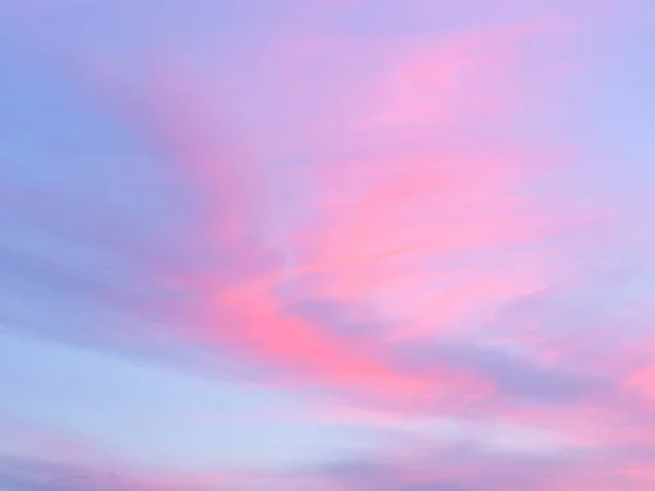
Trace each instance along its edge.
{"label": "low mauve-pink cloud strip along the bottom edge, right half", "polygon": [[357,490],[588,489],[646,490],[648,478],[629,481],[627,467],[602,451],[560,452],[547,457],[489,454],[475,443],[420,445],[381,453],[368,460],[343,462],[324,469],[335,486]]}

